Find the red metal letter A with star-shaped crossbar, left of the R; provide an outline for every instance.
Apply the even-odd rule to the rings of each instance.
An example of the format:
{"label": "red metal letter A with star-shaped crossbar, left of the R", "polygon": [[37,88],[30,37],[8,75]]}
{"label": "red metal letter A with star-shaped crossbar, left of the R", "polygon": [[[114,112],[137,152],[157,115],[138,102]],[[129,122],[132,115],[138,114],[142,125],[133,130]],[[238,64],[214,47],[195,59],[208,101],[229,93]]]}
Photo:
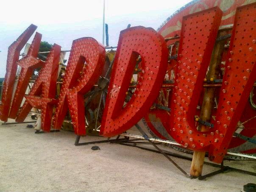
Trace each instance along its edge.
{"label": "red metal letter A with star-shaped crossbar, left of the R", "polygon": [[55,96],[60,53],[61,47],[54,44],[47,56],[44,67],[39,71],[39,76],[33,84],[29,95],[25,96],[26,101],[18,113],[17,122],[23,122],[32,107],[34,107],[41,109],[42,130],[50,131],[53,105],[57,103]]}

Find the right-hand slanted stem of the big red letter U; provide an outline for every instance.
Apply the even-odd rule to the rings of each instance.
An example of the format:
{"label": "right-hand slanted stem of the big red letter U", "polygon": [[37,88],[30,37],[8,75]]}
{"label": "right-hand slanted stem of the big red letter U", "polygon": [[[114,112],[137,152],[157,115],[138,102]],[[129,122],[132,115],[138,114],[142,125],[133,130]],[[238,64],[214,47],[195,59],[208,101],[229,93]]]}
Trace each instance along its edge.
{"label": "right-hand slanted stem of the big red letter U", "polygon": [[[256,81],[256,3],[237,8],[216,121],[219,139],[210,151],[221,162]],[[224,128],[224,129],[223,129]],[[221,133],[222,132],[222,133]],[[218,150],[216,150],[216,148]],[[209,157],[211,158],[211,156]]]}

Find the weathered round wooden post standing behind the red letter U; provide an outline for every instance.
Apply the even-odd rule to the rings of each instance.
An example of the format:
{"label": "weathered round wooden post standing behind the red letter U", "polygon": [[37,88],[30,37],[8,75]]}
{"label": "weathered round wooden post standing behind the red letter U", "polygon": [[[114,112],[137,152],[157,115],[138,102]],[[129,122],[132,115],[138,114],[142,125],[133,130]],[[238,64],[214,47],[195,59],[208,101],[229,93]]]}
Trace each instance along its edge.
{"label": "weathered round wooden post standing behind the red letter U", "polygon": [[[220,33],[218,34],[218,37],[220,37]],[[225,40],[216,42],[214,45],[214,49],[211,54],[210,68],[207,72],[207,80],[217,79],[220,74],[220,64],[222,61],[224,45]],[[214,107],[215,92],[215,87],[205,88],[200,120],[207,122],[211,120],[211,111]],[[209,131],[209,127],[199,124],[198,131]],[[202,175],[204,157],[205,152],[194,151],[190,167],[190,175],[192,178],[198,178],[200,175]]]}

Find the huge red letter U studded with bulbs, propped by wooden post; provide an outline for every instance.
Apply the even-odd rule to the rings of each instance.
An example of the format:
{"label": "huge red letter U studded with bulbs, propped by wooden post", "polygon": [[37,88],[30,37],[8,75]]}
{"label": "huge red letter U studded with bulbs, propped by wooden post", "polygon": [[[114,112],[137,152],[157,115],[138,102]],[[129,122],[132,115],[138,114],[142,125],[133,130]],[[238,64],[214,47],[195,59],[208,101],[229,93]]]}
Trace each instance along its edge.
{"label": "huge red letter U studded with bulbs, propped by wooden post", "polygon": [[[213,40],[217,34],[217,27],[214,26],[207,35],[209,39],[212,39],[212,45],[210,42],[206,42],[204,37],[200,39],[204,45],[196,45],[197,47],[200,46],[200,49],[205,50],[205,52],[203,50],[201,52],[200,50],[193,52],[195,47],[186,47],[186,43],[190,40],[189,44],[191,44],[191,41],[194,41],[193,38],[197,38],[196,34],[193,34],[192,39],[187,38],[190,31],[189,27],[193,30],[193,28],[200,25],[200,22],[203,22],[203,25],[207,27],[212,17],[214,17],[213,21],[210,21],[212,25],[214,22],[219,23],[221,14],[219,13],[218,15],[218,12],[216,8],[211,9],[211,11],[202,11],[198,13],[199,16],[200,14],[209,14],[209,20],[201,21],[200,19],[197,21],[197,18],[200,17],[196,17],[198,14],[193,14],[185,17],[185,21],[182,23],[181,47],[178,57],[181,65],[178,67],[175,83],[176,90],[172,103],[173,117],[170,119],[170,133],[184,147],[192,150],[209,150],[209,159],[220,163],[227,151],[255,81],[255,44],[253,44],[253,36],[251,35],[251,26],[254,23],[254,18],[249,17],[248,13],[255,15],[256,9],[252,5],[237,9],[231,36],[229,59],[226,62],[227,67],[223,77],[222,92],[214,128],[211,131],[200,132],[195,127],[194,115],[197,101],[200,98],[203,78],[209,64],[211,46],[214,44]],[[198,24],[189,25],[186,28],[187,22],[190,24],[191,22],[198,22]],[[194,29],[194,31],[198,30]],[[197,35],[200,35],[200,32]],[[206,33],[204,32],[203,35],[206,36]],[[184,39],[186,39],[186,42]],[[241,41],[242,43],[240,43]],[[206,54],[207,52],[208,54]],[[184,83],[186,84],[185,87]]]}

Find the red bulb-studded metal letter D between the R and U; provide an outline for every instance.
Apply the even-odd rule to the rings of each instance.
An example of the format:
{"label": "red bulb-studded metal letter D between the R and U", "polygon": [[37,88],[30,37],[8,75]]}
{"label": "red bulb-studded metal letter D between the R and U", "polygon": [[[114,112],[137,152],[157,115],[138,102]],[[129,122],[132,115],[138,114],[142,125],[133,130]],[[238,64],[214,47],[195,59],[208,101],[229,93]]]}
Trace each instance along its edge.
{"label": "red bulb-studded metal letter D between the R and U", "polygon": [[[131,100],[123,107],[136,58],[141,56],[142,75]],[[100,134],[115,136],[131,128],[159,95],[167,69],[167,45],[152,28],[121,31],[111,74]]]}

